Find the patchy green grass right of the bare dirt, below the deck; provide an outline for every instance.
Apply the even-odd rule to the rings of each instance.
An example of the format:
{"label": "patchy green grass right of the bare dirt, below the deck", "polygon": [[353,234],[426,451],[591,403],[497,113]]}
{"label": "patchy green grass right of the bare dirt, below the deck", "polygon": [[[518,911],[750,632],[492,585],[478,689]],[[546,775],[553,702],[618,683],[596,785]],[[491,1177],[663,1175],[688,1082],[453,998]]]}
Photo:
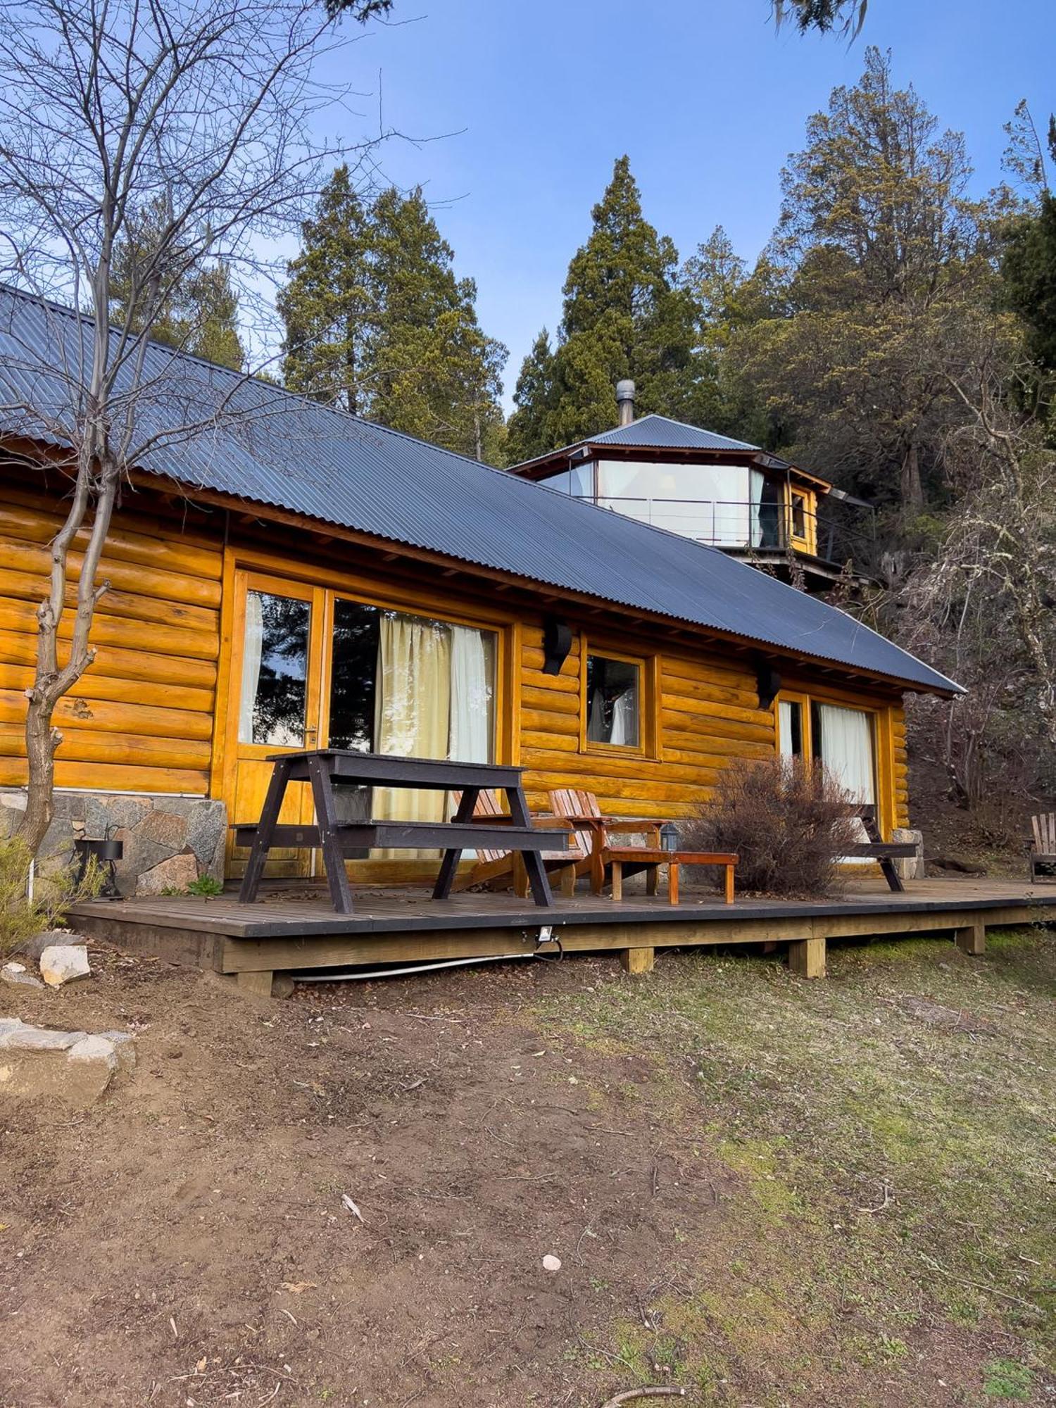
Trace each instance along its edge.
{"label": "patchy green grass right of the bare dirt, below the deck", "polygon": [[[648,1052],[658,1079],[642,1102],[700,1136],[748,1194],[727,1211],[750,1294],[731,1267],[719,1290],[653,1307],[690,1346],[677,1381],[715,1384],[731,1357],[780,1362],[798,1393],[812,1369],[787,1346],[804,1324],[834,1363],[911,1374],[922,1311],[1002,1321],[1028,1363],[1050,1359],[1055,993],[1056,943],[1031,929],[988,936],[983,959],[935,939],[834,946],[822,983],[698,950],[648,983],[541,1007],[555,1039]],[[676,1255],[691,1281],[691,1247]],[[987,1398],[1026,1400],[1035,1384],[1015,1359],[983,1378]]]}

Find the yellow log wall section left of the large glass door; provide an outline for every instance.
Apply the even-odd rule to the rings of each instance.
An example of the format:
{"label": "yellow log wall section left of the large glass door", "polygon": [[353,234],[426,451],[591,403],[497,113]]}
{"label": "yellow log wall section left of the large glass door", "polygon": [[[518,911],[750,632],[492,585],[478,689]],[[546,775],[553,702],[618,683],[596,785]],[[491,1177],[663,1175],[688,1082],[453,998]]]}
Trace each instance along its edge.
{"label": "yellow log wall section left of the large glass door", "polygon": [[[0,784],[25,781],[25,690],[37,653],[54,505],[21,491],[0,505]],[[80,546],[83,546],[83,536]],[[73,601],[80,552],[70,553]],[[222,549],[177,527],[118,515],[92,627],[96,660],[61,700],[59,787],[207,793],[213,762]],[[69,615],[59,628],[69,641]]]}

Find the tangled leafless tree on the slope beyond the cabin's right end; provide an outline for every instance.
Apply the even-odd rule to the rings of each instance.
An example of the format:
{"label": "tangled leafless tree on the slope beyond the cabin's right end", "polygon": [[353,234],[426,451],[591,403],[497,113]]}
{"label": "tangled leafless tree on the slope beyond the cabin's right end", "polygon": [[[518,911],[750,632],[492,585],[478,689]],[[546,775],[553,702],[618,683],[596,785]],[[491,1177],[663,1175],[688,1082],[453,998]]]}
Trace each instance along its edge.
{"label": "tangled leafless tree on the slope beyond the cabin's right end", "polygon": [[1045,787],[1056,750],[1056,452],[1043,413],[1019,410],[1028,397],[1015,394],[1017,375],[1029,379],[1029,366],[1017,373],[984,342],[949,367],[964,410],[945,456],[955,504],[900,601],[904,642],[969,689],[915,712],[921,752],[941,759],[957,803],[979,814],[995,811],[994,791],[1022,801],[1012,774]]}

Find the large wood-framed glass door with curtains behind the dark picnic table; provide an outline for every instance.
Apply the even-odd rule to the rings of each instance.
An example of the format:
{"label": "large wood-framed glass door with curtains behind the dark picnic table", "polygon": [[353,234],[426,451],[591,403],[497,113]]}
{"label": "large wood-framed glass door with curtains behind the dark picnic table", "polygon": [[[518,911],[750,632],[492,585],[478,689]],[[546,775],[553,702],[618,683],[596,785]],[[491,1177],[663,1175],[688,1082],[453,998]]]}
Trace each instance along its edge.
{"label": "large wood-framed glass door with curtains behind the dark picnic table", "polygon": [[[459,621],[358,601],[324,587],[237,574],[232,648],[232,821],[256,821],[270,776],[266,758],[301,748],[353,748],[401,758],[491,762],[496,736],[497,632]],[[349,790],[345,819],[441,819],[442,793]],[[283,814],[308,821],[298,788]],[[380,853],[403,859],[403,853]],[[411,853],[407,853],[407,859]],[[232,870],[245,852],[232,853]],[[304,873],[301,852],[270,873]]]}

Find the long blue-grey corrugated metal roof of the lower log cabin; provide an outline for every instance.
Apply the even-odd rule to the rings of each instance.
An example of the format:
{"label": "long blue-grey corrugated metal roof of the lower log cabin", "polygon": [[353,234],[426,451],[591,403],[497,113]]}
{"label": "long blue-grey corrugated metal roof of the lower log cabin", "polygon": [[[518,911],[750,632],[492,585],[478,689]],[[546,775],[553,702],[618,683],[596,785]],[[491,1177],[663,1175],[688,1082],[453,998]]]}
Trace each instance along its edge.
{"label": "long blue-grey corrugated metal roof of the lower log cabin", "polygon": [[[0,424],[62,439],[90,324],[0,287]],[[328,524],[929,690],[957,686],[852,617],[674,534],[152,344],[138,463]],[[125,387],[128,379],[121,383]],[[180,434],[182,427],[194,431]]]}

